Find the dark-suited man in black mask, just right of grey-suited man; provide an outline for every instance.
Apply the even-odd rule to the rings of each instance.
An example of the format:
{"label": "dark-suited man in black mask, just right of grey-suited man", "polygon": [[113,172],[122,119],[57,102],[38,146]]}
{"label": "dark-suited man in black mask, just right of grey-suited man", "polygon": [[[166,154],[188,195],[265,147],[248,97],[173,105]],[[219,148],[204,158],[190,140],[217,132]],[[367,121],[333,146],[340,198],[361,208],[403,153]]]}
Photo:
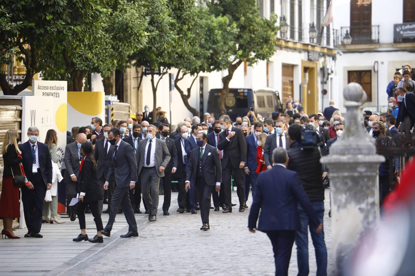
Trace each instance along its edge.
{"label": "dark-suited man in black mask, just right of grey-suited man", "polygon": [[164,170],[164,177],[162,177],[163,189],[164,189],[164,202],[163,202],[163,215],[168,216],[168,209],[171,204],[171,175],[176,173],[177,170],[177,149],[174,140],[168,137],[170,127],[167,124],[161,125],[160,139],[166,142],[168,152],[171,155],[170,161],[167,164],[166,170]]}

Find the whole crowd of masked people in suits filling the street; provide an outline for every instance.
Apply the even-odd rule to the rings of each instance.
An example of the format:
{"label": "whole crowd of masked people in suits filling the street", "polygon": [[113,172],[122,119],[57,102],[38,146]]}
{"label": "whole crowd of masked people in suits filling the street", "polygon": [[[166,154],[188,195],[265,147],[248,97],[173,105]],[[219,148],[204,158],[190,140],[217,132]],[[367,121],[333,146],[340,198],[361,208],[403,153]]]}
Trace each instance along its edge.
{"label": "whole crowd of masked people in suits filling the street", "polygon": [[[409,118],[412,128],[415,118],[415,96],[408,90],[412,82],[402,85],[401,82],[394,80],[396,88],[388,99],[388,113],[364,112],[369,135],[388,139],[393,145],[400,122]],[[129,225],[128,232],[121,237],[137,237],[134,214],[142,214],[141,201],[148,220],[154,222],[159,196],[164,197],[163,215],[170,215],[171,192],[178,192],[176,212],[200,211],[200,230],[209,230],[211,209],[222,209],[223,214],[228,214],[239,205],[237,210],[244,212],[251,191],[253,203],[248,227],[255,232],[261,207],[258,230],[271,239],[277,271],[281,275],[288,271],[295,241],[299,273],[308,275],[310,226],[317,275],[326,274],[323,183],[329,172],[321,165],[320,157],[330,154],[330,146],[342,137],[346,124],[334,101],[330,101],[323,113],[307,115],[298,99],[293,101],[290,96],[286,111],[273,112],[270,118],[258,120],[249,110],[246,116],[232,122],[228,115],[215,118],[205,113],[203,120],[197,116],[185,118],[174,130],[165,112],[161,108],[156,110],[153,115],[149,106],[145,106],[135,118],[114,120],[112,124],[92,118],[86,127],[73,127],[67,132],[62,172],[54,130],[49,130],[41,143],[38,128],[29,127],[28,141],[20,145],[17,132],[7,131],[2,148],[5,164],[0,197],[2,235],[19,238],[12,230],[12,219],[20,216],[19,189],[28,229],[24,237],[42,238],[42,222],[63,223],[57,214],[57,183],[61,180],[66,187],[68,216],[71,221],[78,217],[80,224],[81,233],[73,239],[76,242],[103,242],[103,235],[110,236],[117,214],[124,214]],[[313,132],[319,143],[305,149],[302,145],[305,130]],[[389,175],[398,177],[400,172],[398,158],[394,158],[392,172],[387,164],[388,161],[381,164],[379,173],[381,199],[390,190]],[[23,185],[17,185],[15,175],[25,177]],[[276,179],[278,187],[273,185]],[[232,187],[239,204],[232,202]],[[105,210],[104,204],[107,204]],[[97,234],[91,239],[85,231],[85,213],[93,215],[96,225]],[[105,227],[102,213],[109,214]]]}

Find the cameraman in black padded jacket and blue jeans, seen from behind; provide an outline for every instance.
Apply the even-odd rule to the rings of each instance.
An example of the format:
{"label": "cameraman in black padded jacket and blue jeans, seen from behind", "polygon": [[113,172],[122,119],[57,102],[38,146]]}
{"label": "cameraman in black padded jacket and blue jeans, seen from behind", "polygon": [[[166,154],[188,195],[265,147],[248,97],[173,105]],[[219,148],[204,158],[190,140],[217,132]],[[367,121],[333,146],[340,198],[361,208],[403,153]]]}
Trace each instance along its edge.
{"label": "cameraman in black padded jacket and blue jeans, seen from behind", "polygon": [[[303,184],[305,193],[310,199],[320,223],[323,225],[324,216],[324,185],[321,180],[322,165],[320,164],[320,153],[317,146],[312,149],[303,149],[301,145],[301,125],[291,125],[288,128],[290,149],[288,150],[288,170],[298,173]],[[299,205],[300,230],[295,233],[295,244],[297,245],[298,275],[308,275],[308,216]],[[324,242],[324,231],[317,233],[310,227],[311,238],[315,249],[317,261],[317,275],[327,275],[327,249]]]}

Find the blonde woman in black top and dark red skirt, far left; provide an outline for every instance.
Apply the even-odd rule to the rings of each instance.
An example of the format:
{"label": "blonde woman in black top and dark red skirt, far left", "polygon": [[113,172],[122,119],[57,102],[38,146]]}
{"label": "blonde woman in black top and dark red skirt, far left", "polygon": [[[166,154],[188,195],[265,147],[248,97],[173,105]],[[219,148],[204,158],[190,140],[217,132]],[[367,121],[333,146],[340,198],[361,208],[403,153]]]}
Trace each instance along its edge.
{"label": "blonde woman in black top and dark red skirt, far left", "polygon": [[19,163],[22,162],[20,150],[17,146],[19,137],[16,130],[8,130],[4,137],[2,155],[4,161],[3,184],[0,195],[0,218],[3,220],[1,232],[12,239],[18,239],[13,233],[13,219],[20,218],[19,187],[13,183],[13,175],[22,175]]}

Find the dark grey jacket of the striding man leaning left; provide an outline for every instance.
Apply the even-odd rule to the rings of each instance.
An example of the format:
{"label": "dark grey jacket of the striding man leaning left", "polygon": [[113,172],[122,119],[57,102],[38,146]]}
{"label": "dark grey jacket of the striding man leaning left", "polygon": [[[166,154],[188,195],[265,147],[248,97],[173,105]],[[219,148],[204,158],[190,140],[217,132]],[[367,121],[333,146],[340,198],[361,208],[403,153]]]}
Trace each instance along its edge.
{"label": "dark grey jacket of the striding man leaning left", "polygon": [[115,183],[118,187],[129,187],[131,181],[137,182],[137,161],[134,150],[128,143],[121,141],[115,161],[114,151],[110,154],[111,166],[108,170],[107,182],[110,183],[112,176],[115,175]]}

